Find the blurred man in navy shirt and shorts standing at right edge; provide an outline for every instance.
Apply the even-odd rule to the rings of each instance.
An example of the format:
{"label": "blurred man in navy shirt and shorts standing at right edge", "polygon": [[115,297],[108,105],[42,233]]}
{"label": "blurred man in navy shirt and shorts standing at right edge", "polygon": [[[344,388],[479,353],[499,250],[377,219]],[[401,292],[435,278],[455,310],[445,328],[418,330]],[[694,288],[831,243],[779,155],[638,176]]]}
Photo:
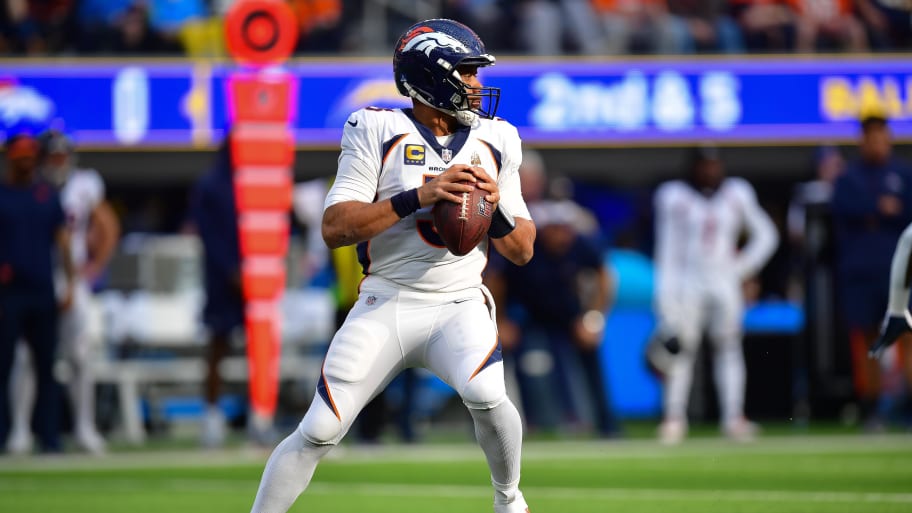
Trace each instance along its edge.
{"label": "blurred man in navy shirt and shorts standing at right edge", "polygon": [[867,431],[883,429],[880,362],[869,358],[868,350],[887,309],[891,255],[912,222],[912,172],[893,155],[891,139],[883,115],[862,119],[859,158],[836,181],[832,201],[838,298]]}

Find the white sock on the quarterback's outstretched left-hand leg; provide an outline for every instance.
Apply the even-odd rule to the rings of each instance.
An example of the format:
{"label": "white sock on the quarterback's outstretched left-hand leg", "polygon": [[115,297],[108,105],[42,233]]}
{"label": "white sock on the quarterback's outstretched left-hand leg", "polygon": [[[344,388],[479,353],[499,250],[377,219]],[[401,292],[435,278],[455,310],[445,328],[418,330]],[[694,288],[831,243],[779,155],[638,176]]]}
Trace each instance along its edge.
{"label": "white sock on the quarterback's outstretched left-hand leg", "polygon": [[285,513],[310,484],[317,463],[334,445],[313,445],[296,429],[272,451],[251,513]]}

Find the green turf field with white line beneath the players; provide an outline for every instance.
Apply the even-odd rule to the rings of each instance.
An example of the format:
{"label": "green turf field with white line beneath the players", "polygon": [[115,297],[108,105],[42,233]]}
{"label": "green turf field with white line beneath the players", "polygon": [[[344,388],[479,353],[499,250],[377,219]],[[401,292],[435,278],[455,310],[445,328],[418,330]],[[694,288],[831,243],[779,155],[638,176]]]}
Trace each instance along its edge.
{"label": "green turf field with white line beneath the players", "polygon": [[[248,512],[268,454],[118,451],[0,458],[0,512]],[[342,446],[293,512],[490,513],[471,443]],[[912,512],[912,435],[529,442],[534,513]]]}

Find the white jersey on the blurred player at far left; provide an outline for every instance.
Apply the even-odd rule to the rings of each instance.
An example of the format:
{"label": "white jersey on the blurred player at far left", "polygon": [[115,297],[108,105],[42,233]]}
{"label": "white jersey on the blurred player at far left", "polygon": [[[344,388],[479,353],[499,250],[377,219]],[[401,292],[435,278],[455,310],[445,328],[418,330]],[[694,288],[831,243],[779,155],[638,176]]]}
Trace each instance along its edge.
{"label": "white jersey on the blurred player at far left", "polygon": [[88,260],[89,221],[104,196],[104,181],[94,169],[74,169],[60,190],[60,201],[71,231],[73,265],[77,269]]}

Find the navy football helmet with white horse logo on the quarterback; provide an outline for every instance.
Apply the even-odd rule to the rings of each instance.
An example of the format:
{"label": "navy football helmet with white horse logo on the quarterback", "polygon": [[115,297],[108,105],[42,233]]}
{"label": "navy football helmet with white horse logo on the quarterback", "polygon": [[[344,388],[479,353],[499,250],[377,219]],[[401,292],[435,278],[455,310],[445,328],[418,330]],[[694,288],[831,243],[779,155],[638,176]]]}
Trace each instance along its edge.
{"label": "navy football helmet with white horse logo on the quarterback", "polygon": [[[500,88],[469,87],[457,68],[492,66],[494,62],[472,29],[457,21],[434,19],[412,25],[396,42],[393,75],[403,96],[417,98],[470,125],[476,116],[494,117]],[[481,107],[473,108],[470,97],[480,98]]]}

